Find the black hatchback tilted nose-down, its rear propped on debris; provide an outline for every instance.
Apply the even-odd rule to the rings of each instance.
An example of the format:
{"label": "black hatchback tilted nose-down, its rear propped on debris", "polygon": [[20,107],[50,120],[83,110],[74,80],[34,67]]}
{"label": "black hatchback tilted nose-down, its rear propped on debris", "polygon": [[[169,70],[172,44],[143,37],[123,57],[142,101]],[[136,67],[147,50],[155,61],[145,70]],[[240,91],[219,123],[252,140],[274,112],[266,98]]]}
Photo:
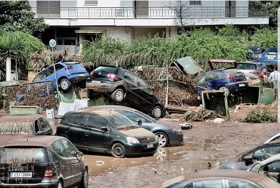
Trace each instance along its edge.
{"label": "black hatchback tilted nose-down, its rear propped on debris", "polygon": [[150,86],[131,72],[114,66],[100,66],[90,73],[86,82],[88,98],[107,94],[122,106],[132,107],[154,118],[164,115],[164,105]]}

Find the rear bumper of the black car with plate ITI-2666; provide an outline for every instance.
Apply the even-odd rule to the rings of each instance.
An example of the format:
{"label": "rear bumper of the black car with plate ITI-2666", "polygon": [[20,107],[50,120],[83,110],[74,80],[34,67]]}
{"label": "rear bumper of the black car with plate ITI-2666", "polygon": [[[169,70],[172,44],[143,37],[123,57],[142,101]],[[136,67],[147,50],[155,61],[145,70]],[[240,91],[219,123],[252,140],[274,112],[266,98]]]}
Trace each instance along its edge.
{"label": "rear bumper of the black car with plate ITI-2666", "polygon": [[56,184],[58,182],[58,179],[46,179],[42,180],[41,183],[36,183],[36,184],[5,184],[5,183],[0,183],[0,187],[45,187],[45,188],[55,188]]}

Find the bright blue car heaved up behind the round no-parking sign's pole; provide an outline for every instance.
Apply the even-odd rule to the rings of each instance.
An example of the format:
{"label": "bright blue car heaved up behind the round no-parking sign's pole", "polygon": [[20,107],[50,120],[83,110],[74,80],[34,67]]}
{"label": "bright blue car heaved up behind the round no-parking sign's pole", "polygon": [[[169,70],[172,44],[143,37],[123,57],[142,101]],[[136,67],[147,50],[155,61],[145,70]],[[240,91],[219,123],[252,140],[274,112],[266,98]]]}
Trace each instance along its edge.
{"label": "bright blue car heaved up behind the round no-parking sign's pole", "polygon": [[[71,83],[76,83],[78,87],[85,88],[86,80],[89,77],[83,64],[73,60],[61,61],[55,63],[57,82],[62,91],[67,91]],[[53,65],[39,72],[32,82],[51,80],[55,88],[55,74]]]}

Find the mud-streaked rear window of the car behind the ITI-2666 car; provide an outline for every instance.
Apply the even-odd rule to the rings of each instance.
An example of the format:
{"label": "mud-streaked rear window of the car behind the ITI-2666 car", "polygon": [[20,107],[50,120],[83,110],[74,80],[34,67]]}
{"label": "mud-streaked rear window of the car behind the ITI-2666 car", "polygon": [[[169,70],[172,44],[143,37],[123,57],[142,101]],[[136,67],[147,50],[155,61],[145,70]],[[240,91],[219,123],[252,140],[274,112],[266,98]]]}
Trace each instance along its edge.
{"label": "mud-streaked rear window of the car behind the ITI-2666 car", "polygon": [[0,121],[0,134],[32,134],[32,121]]}

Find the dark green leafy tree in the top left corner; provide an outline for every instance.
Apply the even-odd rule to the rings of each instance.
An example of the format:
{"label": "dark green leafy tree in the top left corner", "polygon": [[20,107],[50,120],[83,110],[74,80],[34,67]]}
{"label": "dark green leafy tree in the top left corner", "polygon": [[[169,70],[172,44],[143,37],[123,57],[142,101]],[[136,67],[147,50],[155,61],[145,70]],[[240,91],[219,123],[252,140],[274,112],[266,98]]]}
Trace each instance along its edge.
{"label": "dark green leafy tree in the top left corner", "polygon": [[43,18],[34,18],[28,1],[0,1],[0,29],[24,31],[39,37],[48,28]]}

